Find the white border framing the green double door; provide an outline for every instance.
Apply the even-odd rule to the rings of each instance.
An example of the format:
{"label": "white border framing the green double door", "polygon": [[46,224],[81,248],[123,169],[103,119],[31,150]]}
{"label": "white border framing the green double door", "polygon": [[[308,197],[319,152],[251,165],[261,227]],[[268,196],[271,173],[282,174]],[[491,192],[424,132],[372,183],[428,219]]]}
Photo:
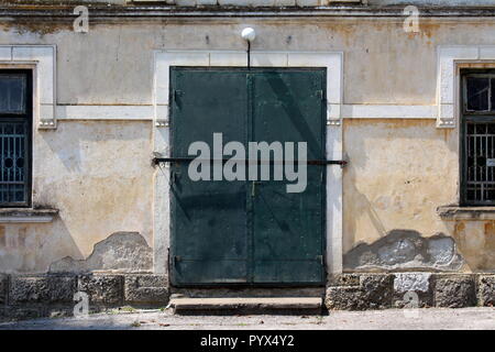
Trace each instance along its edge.
{"label": "white border framing the green double door", "polygon": [[[154,57],[154,152],[169,155],[168,82],[170,66],[246,66],[241,51],[157,51]],[[340,52],[251,52],[253,67],[327,68],[327,157],[342,160],[343,54]],[[169,248],[168,170],[161,165],[154,183],[154,272],[167,272]],[[327,168],[327,273],[342,272],[342,168]]]}

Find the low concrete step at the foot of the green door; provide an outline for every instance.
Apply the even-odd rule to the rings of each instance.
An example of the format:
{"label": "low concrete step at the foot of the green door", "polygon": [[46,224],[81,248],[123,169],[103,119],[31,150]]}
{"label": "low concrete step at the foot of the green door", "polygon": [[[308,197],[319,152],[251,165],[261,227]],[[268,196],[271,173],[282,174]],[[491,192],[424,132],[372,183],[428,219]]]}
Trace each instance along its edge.
{"label": "low concrete step at the foot of the green door", "polygon": [[320,315],[323,304],[321,297],[177,297],[170,307],[177,315]]}

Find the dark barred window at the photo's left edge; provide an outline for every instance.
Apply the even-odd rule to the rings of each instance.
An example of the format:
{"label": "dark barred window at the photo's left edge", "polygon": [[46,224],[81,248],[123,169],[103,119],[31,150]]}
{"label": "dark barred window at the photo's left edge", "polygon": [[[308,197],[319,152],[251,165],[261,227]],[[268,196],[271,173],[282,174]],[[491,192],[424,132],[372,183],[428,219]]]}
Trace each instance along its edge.
{"label": "dark barred window at the photo's left edge", "polygon": [[31,199],[31,72],[0,70],[0,206]]}

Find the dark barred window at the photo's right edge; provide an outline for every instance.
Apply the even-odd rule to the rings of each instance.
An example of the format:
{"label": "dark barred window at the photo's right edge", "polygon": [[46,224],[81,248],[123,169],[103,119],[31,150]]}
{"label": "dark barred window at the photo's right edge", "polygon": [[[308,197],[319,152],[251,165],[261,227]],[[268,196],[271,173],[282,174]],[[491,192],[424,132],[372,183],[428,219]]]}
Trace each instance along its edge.
{"label": "dark barred window at the photo's right edge", "polygon": [[461,201],[495,205],[495,72],[462,74]]}

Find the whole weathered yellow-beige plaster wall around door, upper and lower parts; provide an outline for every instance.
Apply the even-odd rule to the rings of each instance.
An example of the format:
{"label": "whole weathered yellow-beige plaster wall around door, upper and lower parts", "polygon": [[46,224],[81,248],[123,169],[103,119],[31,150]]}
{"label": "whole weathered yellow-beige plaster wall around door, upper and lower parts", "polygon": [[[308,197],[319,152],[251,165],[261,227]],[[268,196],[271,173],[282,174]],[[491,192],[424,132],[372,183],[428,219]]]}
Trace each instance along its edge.
{"label": "whole weathered yellow-beige plaster wall around door, upper and lower parts", "polygon": [[[343,52],[344,105],[433,106],[437,46],[495,43],[495,24],[483,19],[421,19],[416,34],[403,31],[402,19],[90,20],[86,34],[66,24],[10,22],[0,43],[57,45],[59,105],[139,106],[153,101],[153,51],[245,50],[239,33],[246,25],[256,29],[255,51]],[[394,231],[411,231],[454,240],[447,251],[454,249],[463,264],[447,270],[494,270],[492,222],[462,228],[436,212],[458,200],[457,130],[436,129],[432,119],[373,118],[343,123],[350,161],[343,176],[344,257]],[[119,231],[138,232],[152,248],[152,121],[58,121],[57,130],[36,131],[34,202],[59,209],[59,217],[48,224],[0,226],[0,272],[45,272],[66,256],[86,260]],[[436,268],[427,258],[419,262]],[[407,263],[394,265],[418,266]]]}

